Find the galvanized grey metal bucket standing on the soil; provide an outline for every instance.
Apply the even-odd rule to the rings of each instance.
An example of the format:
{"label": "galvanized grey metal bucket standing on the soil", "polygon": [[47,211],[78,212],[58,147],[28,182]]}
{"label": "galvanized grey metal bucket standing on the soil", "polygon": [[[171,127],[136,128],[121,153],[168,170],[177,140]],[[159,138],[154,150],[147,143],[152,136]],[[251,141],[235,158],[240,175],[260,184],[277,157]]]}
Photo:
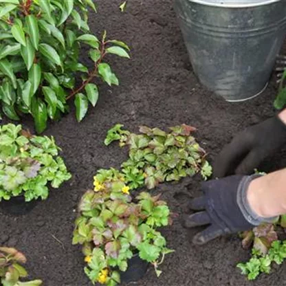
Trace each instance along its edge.
{"label": "galvanized grey metal bucket standing on the soil", "polygon": [[175,0],[203,85],[236,102],[267,87],[286,35],[286,0]]}

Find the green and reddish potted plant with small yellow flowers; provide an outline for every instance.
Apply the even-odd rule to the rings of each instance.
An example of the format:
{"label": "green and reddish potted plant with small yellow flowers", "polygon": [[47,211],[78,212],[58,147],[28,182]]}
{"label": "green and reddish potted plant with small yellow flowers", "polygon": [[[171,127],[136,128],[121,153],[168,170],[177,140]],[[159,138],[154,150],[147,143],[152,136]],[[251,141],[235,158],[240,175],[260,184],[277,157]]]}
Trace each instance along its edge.
{"label": "green and reddish potted plant with small yellow flowers", "polygon": [[159,276],[157,267],[165,254],[172,252],[157,231],[170,223],[166,203],[148,192],[132,199],[124,174],[115,169],[99,170],[94,186],[80,201],[73,239],[74,244],[83,244],[85,273],[91,282],[120,283],[116,269],[125,272],[127,261],[137,252],[154,265]]}

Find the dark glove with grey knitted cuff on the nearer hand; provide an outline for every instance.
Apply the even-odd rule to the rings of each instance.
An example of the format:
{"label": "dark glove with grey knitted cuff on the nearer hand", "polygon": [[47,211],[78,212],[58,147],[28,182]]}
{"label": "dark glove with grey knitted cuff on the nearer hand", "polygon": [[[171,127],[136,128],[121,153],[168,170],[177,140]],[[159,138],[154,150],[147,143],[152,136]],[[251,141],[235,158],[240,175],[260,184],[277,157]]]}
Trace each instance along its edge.
{"label": "dark glove with grey knitted cuff on the nearer hand", "polygon": [[259,217],[248,203],[248,187],[256,177],[259,175],[234,175],[202,184],[203,197],[190,201],[190,209],[200,211],[187,215],[184,225],[186,228],[209,226],[194,236],[193,243],[202,245],[223,234],[250,230],[274,220]]}

